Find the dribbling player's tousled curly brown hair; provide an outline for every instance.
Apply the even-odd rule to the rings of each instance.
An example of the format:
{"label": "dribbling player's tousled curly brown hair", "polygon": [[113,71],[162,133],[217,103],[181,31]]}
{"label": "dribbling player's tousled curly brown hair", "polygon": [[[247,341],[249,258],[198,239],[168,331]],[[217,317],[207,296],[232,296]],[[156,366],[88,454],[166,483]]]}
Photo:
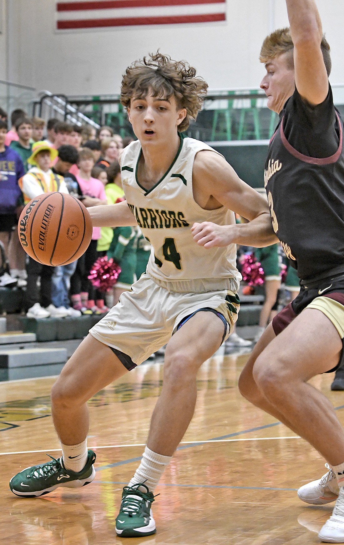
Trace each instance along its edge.
{"label": "dribbling player's tousled curly brown hair", "polygon": [[143,60],[135,60],[123,75],[121,103],[130,107],[133,97],[145,98],[152,91],[153,96],[169,99],[174,96],[177,107],[186,109],[186,117],[178,126],[185,131],[191,119],[196,119],[200,111],[208,85],[196,77],[196,70],[184,60],[171,60],[162,53],[150,53]]}

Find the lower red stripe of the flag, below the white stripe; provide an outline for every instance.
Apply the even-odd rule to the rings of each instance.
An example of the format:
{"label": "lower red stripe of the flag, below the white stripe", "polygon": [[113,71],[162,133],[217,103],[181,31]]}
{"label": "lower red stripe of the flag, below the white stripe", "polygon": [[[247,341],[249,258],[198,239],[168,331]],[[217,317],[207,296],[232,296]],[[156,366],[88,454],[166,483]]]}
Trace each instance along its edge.
{"label": "lower red stripe of the flag, below the white stripe", "polygon": [[83,19],[79,21],[57,21],[58,30],[72,28],[126,27],[136,25],[176,25],[178,23],[209,23],[226,21],[226,14],[172,15],[163,17],[121,17],[120,19]]}

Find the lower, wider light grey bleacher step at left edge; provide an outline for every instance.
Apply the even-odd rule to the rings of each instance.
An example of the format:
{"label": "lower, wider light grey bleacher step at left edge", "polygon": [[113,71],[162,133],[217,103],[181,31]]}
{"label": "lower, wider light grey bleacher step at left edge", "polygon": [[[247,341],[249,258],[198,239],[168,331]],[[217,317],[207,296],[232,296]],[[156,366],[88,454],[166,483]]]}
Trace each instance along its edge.
{"label": "lower, wider light grey bleacher step at left edge", "polygon": [[64,364],[67,361],[66,348],[0,348],[0,367],[29,367],[38,365]]}

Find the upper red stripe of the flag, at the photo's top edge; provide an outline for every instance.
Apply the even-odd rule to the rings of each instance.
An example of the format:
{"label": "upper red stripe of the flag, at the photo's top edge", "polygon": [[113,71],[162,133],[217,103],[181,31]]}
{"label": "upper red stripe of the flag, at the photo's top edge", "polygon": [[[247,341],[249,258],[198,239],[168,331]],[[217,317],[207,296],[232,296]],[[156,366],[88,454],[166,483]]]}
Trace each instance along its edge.
{"label": "upper red stripe of the flag, at the photo's top edge", "polygon": [[226,0],[103,0],[100,2],[57,2],[57,11],[88,9],[150,8],[166,5],[223,4]]}

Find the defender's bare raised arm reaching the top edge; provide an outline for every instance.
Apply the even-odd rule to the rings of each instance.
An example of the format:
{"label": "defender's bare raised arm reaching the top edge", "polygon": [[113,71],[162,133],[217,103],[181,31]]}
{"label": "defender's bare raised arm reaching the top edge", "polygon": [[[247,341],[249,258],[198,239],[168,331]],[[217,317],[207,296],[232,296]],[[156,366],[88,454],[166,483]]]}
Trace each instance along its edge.
{"label": "defender's bare raised arm reaching the top edge", "polygon": [[323,29],[315,0],[286,0],[294,44],[295,85],[310,104],[321,104],[329,82],[321,51]]}

